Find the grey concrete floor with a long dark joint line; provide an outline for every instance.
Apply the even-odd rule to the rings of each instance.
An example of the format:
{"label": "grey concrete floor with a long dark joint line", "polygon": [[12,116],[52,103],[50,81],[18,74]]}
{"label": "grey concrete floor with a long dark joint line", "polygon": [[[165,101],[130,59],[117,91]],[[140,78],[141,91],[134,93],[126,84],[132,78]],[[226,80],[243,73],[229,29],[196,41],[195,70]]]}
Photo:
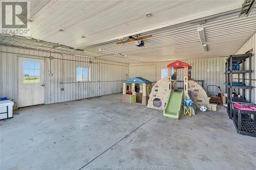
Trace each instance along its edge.
{"label": "grey concrete floor with a long dark joint line", "polygon": [[256,138],[238,135],[224,108],[177,121],[121,99],[14,111],[0,122],[1,169],[256,169]]}

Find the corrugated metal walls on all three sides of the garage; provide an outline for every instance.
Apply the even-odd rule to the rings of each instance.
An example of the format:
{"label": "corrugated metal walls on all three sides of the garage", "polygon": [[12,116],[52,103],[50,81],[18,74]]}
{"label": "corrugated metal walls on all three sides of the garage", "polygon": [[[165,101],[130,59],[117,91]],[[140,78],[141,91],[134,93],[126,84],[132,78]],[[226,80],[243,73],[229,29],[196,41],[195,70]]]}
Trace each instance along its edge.
{"label": "corrugated metal walls on all three sides of the garage", "polygon": [[[90,98],[93,96],[111,94],[122,91],[122,80],[141,76],[151,81],[161,79],[161,69],[173,61],[164,62],[149,62],[139,64],[125,64],[105,60],[89,59],[84,57],[74,57],[71,55],[52,54],[54,58],[51,62],[51,71],[53,77],[48,76],[50,71],[50,53],[40,52],[36,50],[25,50],[24,48],[15,48],[5,45],[0,45],[0,96],[7,96],[17,102],[17,57],[25,56],[32,58],[45,59],[45,77],[46,77],[46,98],[45,103],[57,103],[82,98]],[[256,59],[254,57],[256,49],[256,35],[253,35],[241,48],[237,54],[243,54],[253,49],[252,57],[252,86],[256,86],[255,67]],[[41,57],[40,57],[41,56]],[[61,60],[65,59],[65,60]],[[75,60],[75,61],[71,61]],[[89,63],[89,61],[97,63]],[[201,58],[181,60],[192,66],[192,78],[194,80],[204,80],[204,89],[207,85],[218,85],[224,90],[226,57],[216,58]],[[246,63],[248,68],[248,62]],[[90,66],[91,67],[91,82],[76,83],[75,67]],[[183,70],[178,71],[179,80],[182,80]],[[247,75],[248,78],[248,75]],[[98,82],[100,80],[100,82]],[[63,82],[64,84],[60,84]],[[182,84],[179,84],[181,86]],[[63,86],[64,91],[60,91]],[[210,91],[216,91],[216,88],[210,88]],[[256,90],[252,89],[252,102],[255,99]]]}

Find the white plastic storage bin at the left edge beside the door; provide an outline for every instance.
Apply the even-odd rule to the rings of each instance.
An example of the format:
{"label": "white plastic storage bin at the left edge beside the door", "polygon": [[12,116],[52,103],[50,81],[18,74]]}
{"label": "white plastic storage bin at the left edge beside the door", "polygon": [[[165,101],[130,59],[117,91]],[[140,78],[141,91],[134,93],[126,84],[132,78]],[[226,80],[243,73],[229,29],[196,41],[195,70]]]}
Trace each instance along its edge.
{"label": "white plastic storage bin at the left edge beside the door", "polygon": [[12,107],[13,102],[6,100],[6,101],[0,101],[0,120],[6,119],[6,118],[12,118]]}

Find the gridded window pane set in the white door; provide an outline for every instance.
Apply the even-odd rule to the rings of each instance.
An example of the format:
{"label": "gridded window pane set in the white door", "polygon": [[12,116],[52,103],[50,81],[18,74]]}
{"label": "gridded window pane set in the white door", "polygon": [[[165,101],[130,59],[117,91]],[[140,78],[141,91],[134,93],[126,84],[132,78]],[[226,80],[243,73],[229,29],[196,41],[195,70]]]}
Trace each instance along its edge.
{"label": "gridded window pane set in the white door", "polygon": [[24,61],[23,75],[23,83],[40,83],[40,63],[37,61]]}

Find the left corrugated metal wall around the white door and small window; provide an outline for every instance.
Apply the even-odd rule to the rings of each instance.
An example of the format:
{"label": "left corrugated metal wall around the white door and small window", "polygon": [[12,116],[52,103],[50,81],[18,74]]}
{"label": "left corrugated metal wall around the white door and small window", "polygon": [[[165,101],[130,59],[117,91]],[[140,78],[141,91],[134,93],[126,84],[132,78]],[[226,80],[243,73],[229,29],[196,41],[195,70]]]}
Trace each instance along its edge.
{"label": "left corrugated metal wall around the white door and small window", "polygon": [[[0,96],[7,96],[17,102],[17,61],[18,57],[41,58],[45,60],[45,104],[91,98],[122,91],[122,80],[129,75],[129,65],[113,61],[96,60],[71,55],[51,54],[0,45]],[[62,60],[64,59],[64,60]],[[72,61],[75,60],[75,61]],[[93,63],[89,63],[92,61]],[[51,72],[53,76],[48,74]],[[90,66],[91,82],[77,83],[76,66]],[[100,82],[99,82],[100,81]],[[63,84],[60,84],[63,82]],[[60,88],[64,88],[63,91]],[[16,107],[16,105],[15,105]],[[15,108],[14,107],[14,108]]]}

